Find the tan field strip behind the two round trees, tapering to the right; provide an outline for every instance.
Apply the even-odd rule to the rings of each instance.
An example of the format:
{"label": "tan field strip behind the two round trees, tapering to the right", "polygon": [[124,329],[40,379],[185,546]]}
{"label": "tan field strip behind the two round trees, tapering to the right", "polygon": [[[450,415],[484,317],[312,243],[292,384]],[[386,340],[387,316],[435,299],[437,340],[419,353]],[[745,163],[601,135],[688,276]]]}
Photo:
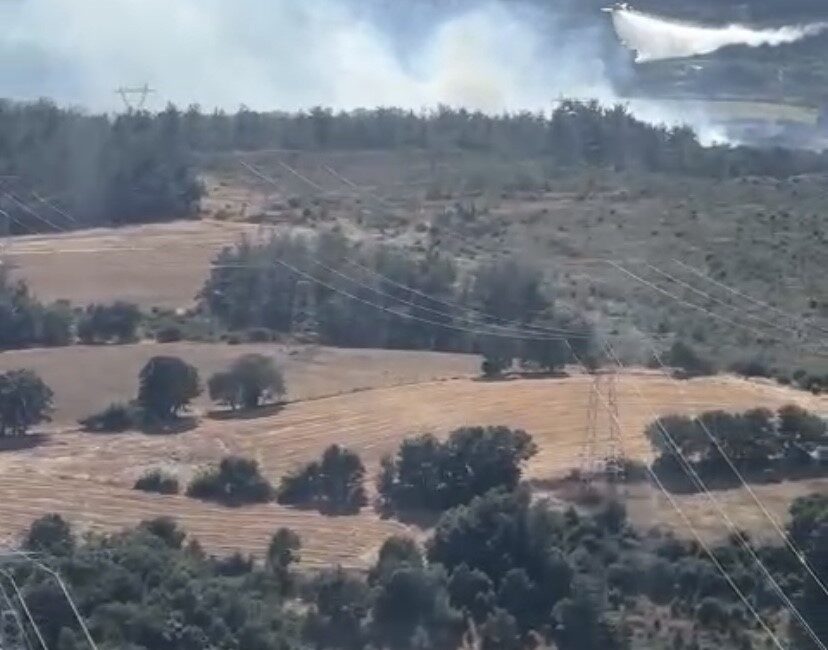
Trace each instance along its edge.
{"label": "tan field strip behind the two round trees, tapering to the right", "polygon": [[[202,383],[242,354],[274,357],[284,369],[288,400],[307,400],[367,388],[397,386],[467,376],[480,367],[478,357],[404,350],[349,350],[275,343],[136,343],[75,345],[64,348],[9,350],[0,354],[0,372],[34,370],[55,392],[55,427],[74,427],[78,419],[111,402],[128,402],[138,390],[138,373],[155,355],[181,357],[198,368]],[[210,408],[206,394],[199,411]]]}

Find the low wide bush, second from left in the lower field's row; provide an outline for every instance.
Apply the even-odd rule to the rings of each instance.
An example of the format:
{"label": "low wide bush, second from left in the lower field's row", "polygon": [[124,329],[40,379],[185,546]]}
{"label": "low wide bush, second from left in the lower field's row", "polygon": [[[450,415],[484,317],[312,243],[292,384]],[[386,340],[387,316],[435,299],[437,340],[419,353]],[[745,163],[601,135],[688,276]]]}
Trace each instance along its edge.
{"label": "low wide bush, second from left in the lower field's row", "polygon": [[227,506],[265,503],[273,499],[273,486],[259,473],[255,460],[228,456],[218,467],[198,474],[187,486],[187,496]]}

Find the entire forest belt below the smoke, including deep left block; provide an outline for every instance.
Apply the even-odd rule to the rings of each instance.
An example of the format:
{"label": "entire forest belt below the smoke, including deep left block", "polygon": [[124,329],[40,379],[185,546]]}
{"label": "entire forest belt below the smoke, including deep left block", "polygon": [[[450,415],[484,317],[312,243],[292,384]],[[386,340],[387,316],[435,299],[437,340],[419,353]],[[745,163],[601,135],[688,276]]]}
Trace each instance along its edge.
{"label": "entire forest belt below the smoke, including deep left block", "polygon": [[714,178],[828,169],[805,151],[702,147],[689,128],[653,126],[624,107],[564,102],[550,115],[438,108],[335,113],[87,115],[40,101],[0,102],[0,209],[11,232],[168,220],[197,212],[194,154],[414,148],[548,157],[553,167],[661,171]]}

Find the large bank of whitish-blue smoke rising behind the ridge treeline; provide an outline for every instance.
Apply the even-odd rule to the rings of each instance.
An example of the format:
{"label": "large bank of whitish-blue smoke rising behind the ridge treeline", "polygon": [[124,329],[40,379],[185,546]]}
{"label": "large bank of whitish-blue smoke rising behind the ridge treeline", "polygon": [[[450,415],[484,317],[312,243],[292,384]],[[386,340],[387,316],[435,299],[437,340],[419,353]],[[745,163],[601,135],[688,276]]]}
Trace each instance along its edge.
{"label": "large bank of whitish-blue smoke rising behind the ridge treeline", "polygon": [[[207,110],[448,104],[500,112],[549,111],[562,96],[616,101],[609,21],[566,6],[0,0],[0,88],[106,111],[120,109],[115,88],[144,82],[156,89],[153,109],[170,101]],[[688,122],[703,140],[719,136],[703,116],[653,102],[631,109],[654,122]]]}

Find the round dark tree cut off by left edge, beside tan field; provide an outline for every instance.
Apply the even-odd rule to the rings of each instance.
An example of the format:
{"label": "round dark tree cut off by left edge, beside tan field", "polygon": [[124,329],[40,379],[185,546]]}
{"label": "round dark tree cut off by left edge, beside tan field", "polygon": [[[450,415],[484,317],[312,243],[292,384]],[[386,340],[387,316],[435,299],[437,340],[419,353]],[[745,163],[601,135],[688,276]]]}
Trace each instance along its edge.
{"label": "round dark tree cut off by left edge, beside tan field", "polygon": [[23,435],[33,425],[48,422],[53,396],[31,370],[0,375],[0,436]]}

